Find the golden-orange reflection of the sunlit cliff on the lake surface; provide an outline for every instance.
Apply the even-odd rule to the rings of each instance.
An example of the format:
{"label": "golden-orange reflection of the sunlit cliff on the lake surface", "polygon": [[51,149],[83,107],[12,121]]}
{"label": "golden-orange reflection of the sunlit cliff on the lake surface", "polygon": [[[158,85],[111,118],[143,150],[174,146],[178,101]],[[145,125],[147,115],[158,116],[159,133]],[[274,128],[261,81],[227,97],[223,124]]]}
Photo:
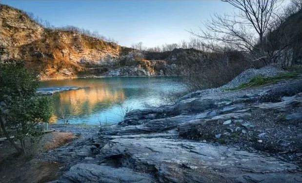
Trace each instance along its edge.
{"label": "golden-orange reflection of the sunlit cliff on the lake surface", "polygon": [[56,114],[60,114],[60,110],[68,115],[90,114],[96,109],[102,110],[125,100],[124,91],[119,87],[121,86],[119,79],[113,84],[106,82],[106,79],[51,80],[42,83],[42,87],[66,85],[87,88],[56,94],[54,96]]}

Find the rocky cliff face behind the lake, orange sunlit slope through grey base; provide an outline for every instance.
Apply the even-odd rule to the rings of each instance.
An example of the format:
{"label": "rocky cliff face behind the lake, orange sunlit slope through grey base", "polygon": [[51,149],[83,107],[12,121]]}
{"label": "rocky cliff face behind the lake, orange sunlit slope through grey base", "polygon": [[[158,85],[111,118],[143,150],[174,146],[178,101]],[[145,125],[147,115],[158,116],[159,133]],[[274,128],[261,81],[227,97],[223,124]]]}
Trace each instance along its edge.
{"label": "rocky cliff face behind the lake, orange sunlit slope through grey base", "polygon": [[41,79],[175,74],[175,64],[147,61],[137,50],[78,32],[46,29],[7,5],[0,5],[0,47],[2,60],[23,60]]}

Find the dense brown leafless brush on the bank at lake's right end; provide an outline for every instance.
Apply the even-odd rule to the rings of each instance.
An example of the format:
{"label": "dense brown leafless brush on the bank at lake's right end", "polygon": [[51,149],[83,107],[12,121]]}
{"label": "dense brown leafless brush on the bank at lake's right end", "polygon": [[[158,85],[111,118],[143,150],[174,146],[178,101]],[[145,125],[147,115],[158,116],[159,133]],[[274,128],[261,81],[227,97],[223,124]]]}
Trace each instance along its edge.
{"label": "dense brown leafless brush on the bank at lake's right end", "polygon": [[181,76],[190,91],[219,87],[250,67],[244,59],[244,53],[234,50],[206,53],[200,60],[184,63]]}

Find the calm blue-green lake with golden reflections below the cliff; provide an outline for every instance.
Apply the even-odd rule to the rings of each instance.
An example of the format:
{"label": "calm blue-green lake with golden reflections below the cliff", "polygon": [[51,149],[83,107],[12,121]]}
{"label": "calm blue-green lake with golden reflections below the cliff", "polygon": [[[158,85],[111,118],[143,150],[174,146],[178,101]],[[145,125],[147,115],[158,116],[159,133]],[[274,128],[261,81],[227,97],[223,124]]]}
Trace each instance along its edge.
{"label": "calm blue-green lake with golden reflections below the cliff", "polygon": [[40,87],[78,86],[78,90],[52,95],[55,114],[51,122],[69,124],[112,124],[125,112],[165,103],[163,96],[182,93],[178,77],[78,78],[41,81]]}

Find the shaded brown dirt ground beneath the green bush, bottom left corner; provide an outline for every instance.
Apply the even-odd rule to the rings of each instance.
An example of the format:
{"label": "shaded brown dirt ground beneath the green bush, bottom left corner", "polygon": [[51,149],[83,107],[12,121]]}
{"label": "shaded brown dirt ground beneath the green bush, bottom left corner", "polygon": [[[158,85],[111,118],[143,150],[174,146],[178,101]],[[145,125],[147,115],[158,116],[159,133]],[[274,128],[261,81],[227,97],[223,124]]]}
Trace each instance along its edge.
{"label": "shaded brown dirt ground beneath the green bush, bottom left corner", "polygon": [[27,142],[27,155],[20,156],[8,141],[0,142],[0,183],[45,183],[58,179],[64,164],[45,162],[39,154],[74,140],[71,132],[50,132],[40,142]]}

